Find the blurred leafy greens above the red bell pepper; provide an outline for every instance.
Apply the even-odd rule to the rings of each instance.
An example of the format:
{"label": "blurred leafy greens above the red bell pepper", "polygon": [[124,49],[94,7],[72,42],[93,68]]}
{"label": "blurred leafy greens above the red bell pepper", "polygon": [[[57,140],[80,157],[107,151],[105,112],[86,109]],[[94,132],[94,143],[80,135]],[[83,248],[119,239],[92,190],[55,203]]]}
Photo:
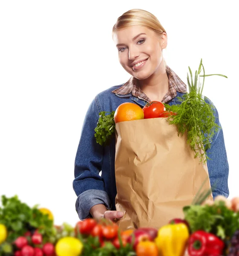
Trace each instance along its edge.
{"label": "blurred leafy greens above the red bell pepper", "polygon": [[213,205],[190,205],[183,208],[185,220],[191,232],[204,230],[229,240],[239,229],[239,212],[233,212],[225,202],[214,202]]}

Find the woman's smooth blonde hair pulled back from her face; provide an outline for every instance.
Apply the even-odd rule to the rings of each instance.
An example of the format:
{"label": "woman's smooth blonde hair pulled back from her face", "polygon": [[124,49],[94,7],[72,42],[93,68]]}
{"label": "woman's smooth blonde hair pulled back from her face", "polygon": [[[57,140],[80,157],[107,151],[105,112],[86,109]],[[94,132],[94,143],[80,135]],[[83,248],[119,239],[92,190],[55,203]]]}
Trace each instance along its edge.
{"label": "woman's smooth blonde hair pulled back from her face", "polygon": [[[115,32],[129,26],[144,26],[153,30],[158,35],[162,35],[163,32],[166,33],[165,29],[155,15],[142,9],[132,9],[118,17],[112,29],[112,38],[114,37]],[[164,64],[166,66],[165,60]]]}

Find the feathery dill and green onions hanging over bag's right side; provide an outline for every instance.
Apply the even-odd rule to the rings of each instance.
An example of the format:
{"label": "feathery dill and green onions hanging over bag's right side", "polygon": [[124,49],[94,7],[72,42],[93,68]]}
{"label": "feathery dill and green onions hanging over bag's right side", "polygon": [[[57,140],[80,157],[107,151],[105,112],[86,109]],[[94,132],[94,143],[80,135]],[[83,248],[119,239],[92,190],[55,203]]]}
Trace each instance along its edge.
{"label": "feathery dill and green onions hanging over bag's right side", "polygon": [[[192,150],[196,153],[195,157],[199,157],[200,160],[206,162],[210,159],[206,153],[210,148],[210,141],[214,134],[219,131],[220,126],[215,120],[215,108],[210,105],[202,96],[202,90],[204,87],[204,79],[206,76],[224,76],[220,74],[205,75],[205,70],[202,64],[202,59],[199,65],[199,69],[195,72],[193,81],[192,71],[190,71],[191,83],[187,73],[187,83],[189,92],[184,96],[178,97],[181,104],[167,105],[164,104],[168,111],[176,112],[176,116],[170,116],[168,122],[171,125],[176,125],[179,135],[187,133],[187,142],[190,144]],[[203,70],[203,75],[200,75]],[[203,77],[203,84],[200,83],[199,78]],[[199,85],[200,83],[200,85]]]}

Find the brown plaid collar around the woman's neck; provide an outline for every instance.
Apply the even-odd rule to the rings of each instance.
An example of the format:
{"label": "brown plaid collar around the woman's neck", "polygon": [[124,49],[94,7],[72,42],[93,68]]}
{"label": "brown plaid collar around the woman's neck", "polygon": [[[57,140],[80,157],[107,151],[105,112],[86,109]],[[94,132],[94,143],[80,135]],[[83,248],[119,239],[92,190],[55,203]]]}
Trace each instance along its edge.
{"label": "brown plaid collar around the woman's neck", "polygon": [[[184,82],[179,78],[179,76],[177,76],[177,74],[168,66],[166,66],[166,73],[169,80],[169,90],[164,95],[164,98],[161,101],[163,103],[169,102],[171,99],[175,98],[177,96],[177,92],[187,92],[186,84],[184,84]],[[131,78],[121,87],[119,87],[116,90],[113,90],[112,93],[117,93],[121,95],[132,93],[132,95],[137,97],[138,99],[143,99],[147,102],[151,101],[149,97],[140,89],[140,87],[138,86],[138,80],[133,76],[131,76]]]}

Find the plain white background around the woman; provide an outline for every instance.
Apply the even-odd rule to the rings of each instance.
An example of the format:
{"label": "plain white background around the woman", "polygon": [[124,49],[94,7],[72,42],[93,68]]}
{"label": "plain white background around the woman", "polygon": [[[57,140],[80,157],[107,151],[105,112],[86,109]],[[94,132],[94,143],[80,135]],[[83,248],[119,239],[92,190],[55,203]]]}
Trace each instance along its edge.
{"label": "plain white background around the woman", "polygon": [[112,27],[124,12],[152,12],[168,35],[167,65],[187,83],[200,59],[204,95],[219,111],[238,191],[239,20],[236,1],[0,1],[0,195],[39,203],[55,223],[74,225],[74,160],[95,95],[130,78],[118,62]]}

